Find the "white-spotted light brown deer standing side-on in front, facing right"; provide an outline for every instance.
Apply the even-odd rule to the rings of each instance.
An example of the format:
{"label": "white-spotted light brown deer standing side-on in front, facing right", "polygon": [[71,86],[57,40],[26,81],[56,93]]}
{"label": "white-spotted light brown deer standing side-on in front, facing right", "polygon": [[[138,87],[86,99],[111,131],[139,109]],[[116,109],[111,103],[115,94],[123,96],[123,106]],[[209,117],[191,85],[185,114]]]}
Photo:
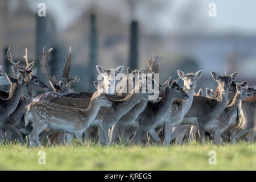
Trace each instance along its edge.
{"label": "white-spotted light brown deer standing side-on in front, facing right", "polygon": [[102,106],[112,106],[112,102],[104,94],[104,89],[93,94],[90,105],[85,110],[46,101],[32,102],[26,107],[25,115],[26,125],[29,121],[34,125],[34,129],[28,135],[30,146],[34,146],[34,142],[38,146],[41,145],[38,137],[47,127],[53,130],[65,131],[68,143],[71,143],[73,135],[82,142],[82,133],[94,120]]}

